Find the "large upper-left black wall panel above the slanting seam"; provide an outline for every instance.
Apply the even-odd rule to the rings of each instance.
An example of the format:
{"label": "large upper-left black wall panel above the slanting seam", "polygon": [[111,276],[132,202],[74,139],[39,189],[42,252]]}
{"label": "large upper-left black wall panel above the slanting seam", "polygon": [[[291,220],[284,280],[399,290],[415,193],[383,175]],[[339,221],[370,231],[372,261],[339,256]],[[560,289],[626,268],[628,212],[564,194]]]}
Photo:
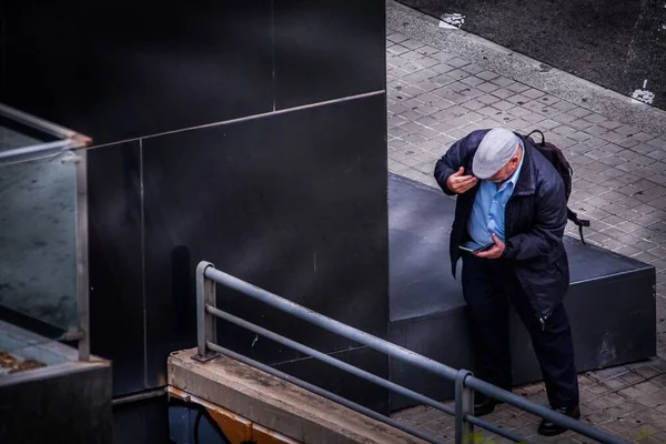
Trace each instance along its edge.
{"label": "large upper-left black wall panel above the slanting seam", "polygon": [[3,4],[0,100],[95,144],[272,110],[270,0]]}

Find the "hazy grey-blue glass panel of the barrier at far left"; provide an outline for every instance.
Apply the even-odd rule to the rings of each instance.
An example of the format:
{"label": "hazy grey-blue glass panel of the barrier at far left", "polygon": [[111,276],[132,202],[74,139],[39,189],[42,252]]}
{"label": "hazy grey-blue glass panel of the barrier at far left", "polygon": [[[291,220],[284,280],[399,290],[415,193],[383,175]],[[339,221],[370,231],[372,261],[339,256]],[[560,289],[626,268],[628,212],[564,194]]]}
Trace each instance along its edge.
{"label": "hazy grey-blue glass panel of the barrier at far left", "polygon": [[[0,150],[51,140],[0,130]],[[75,164],[63,155],[0,163],[0,317],[19,325],[78,329]]]}

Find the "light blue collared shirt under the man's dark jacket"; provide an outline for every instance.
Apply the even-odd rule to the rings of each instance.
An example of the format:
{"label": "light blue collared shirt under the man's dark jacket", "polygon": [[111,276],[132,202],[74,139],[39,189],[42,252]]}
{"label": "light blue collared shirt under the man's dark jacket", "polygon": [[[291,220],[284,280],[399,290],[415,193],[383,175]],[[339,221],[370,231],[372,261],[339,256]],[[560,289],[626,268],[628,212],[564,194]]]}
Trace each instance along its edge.
{"label": "light blue collared shirt under the man's dark jacket", "polygon": [[467,224],[467,230],[475,244],[486,245],[493,242],[491,233],[495,233],[504,242],[504,209],[506,202],[514,192],[523,161],[525,160],[525,150],[518,168],[506,182],[497,189],[497,185],[491,181],[482,180],[474,206],[472,206],[472,216]]}

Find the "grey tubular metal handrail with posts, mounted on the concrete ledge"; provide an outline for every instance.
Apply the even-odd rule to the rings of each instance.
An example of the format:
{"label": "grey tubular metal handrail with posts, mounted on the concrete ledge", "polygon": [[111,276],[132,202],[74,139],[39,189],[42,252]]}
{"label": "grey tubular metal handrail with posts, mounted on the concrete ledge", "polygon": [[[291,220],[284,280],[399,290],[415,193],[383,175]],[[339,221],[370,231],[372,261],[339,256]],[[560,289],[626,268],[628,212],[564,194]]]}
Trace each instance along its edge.
{"label": "grey tubular metal handrail with posts, mounted on the concrete ledge", "polygon": [[[244,295],[248,295],[254,300],[263,302],[268,305],[271,305],[278,310],[281,310],[285,313],[292,314],[299,319],[307,321],[314,325],[317,325],[324,330],[327,330],[333,333],[337,333],[343,337],[355,341],[360,344],[366,345],[376,351],[383,352],[389,356],[403,360],[408,362],[412,365],[418,366],[421,369],[427,370],[434,374],[443,376],[448,381],[453,381],[455,383],[455,408],[451,408],[447,405],[444,405],[437,401],[431,400],[422,394],[418,394],[414,391],[411,391],[406,387],[397,385],[391,381],[384,380],[374,374],[367,373],[361,369],[354,367],[347,363],[344,363],[340,360],[336,360],[325,353],[319,352],[314,349],[307,347],[301,343],[281,336],[276,333],[268,331],[261,326],[258,326],[251,322],[239,319],[230,313],[226,313],[216,307],[216,297],[215,297],[215,283],[223,285],[228,289],[235,290]],[[309,310],[304,306],[295,304],[284,297],[281,297],[276,294],[273,294],[266,290],[260,289],[255,285],[252,285],[249,282],[242,281],[238,278],[234,278],[228,273],[224,273],[220,270],[216,270],[214,265],[210,262],[201,262],[196,268],[196,326],[198,326],[198,354],[194,356],[195,360],[201,362],[206,362],[216,356],[216,353],[222,353],[224,355],[229,355],[233,359],[238,359],[241,362],[244,362],[249,365],[259,367],[262,371],[271,373],[278,377],[285,379],[296,385],[304,386],[300,380],[295,380],[289,375],[285,375],[282,372],[275,371],[274,369],[252,361],[245,356],[242,356],[238,353],[233,353],[226,349],[221,347],[216,344],[216,331],[215,331],[215,319],[222,319],[224,321],[231,322],[241,327],[248,329],[256,334],[261,334],[270,340],[279,342],[281,344],[287,345],[296,351],[305,353],[319,361],[333,365],[337,369],[342,369],[346,372],[350,372],[361,379],[373,382],[386,389],[393,390],[404,396],[408,396],[417,402],[423,404],[433,406],[434,408],[441,410],[445,413],[455,415],[455,441],[456,443],[463,443],[465,440],[468,440],[471,434],[473,433],[473,426],[476,425],[478,427],[485,428],[492,433],[495,433],[500,436],[508,438],[514,442],[527,442],[527,440],[522,438],[521,436],[500,428],[492,423],[480,420],[475,417],[474,414],[474,391],[481,392],[487,396],[493,398],[503,401],[507,404],[514,405],[518,408],[522,408],[526,412],[541,416],[547,421],[551,421],[559,426],[565,428],[575,431],[584,436],[587,436],[592,440],[595,440],[601,443],[609,443],[609,444],[620,444],[627,443],[622,438],[615,437],[608,433],[599,431],[597,428],[585,425],[576,420],[573,420],[568,416],[565,416],[561,413],[554,412],[551,408],[544,407],[542,405],[535,404],[531,401],[527,401],[521,396],[517,396],[511,392],[502,390],[495,385],[488,384],[485,381],[478,380],[474,377],[472,372],[466,370],[455,370],[447,365],[444,365],[440,362],[414,353],[407,349],[401,347],[400,345],[393,344],[391,342],[384,341],[365,332],[362,332],[357,329],[354,329],[350,325],[343,324],[339,321],[326,317],[320,313],[316,313],[312,310]],[[231,352],[231,353],[230,353]],[[307,384],[305,389],[311,390],[312,385]],[[325,392],[321,389],[316,392],[325,397],[332,398],[335,402],[341,403],[352,410],[359,411],[360,413],[367,414],[367,408],[361,407],[357,404],[350,402],[349,400],[341,398],[337,395]],[[364,408],[364,410],[360,410]],[[415,431],[412,427],[408,427],[404,424],[396,423],[394,420],[374,413],[372,416],[375,420],[387,423],[392,426],[401,428],[407,433],[411,433],[415,436],[424,438],[428,442],[436,443],[436,441],[423,433]]]}

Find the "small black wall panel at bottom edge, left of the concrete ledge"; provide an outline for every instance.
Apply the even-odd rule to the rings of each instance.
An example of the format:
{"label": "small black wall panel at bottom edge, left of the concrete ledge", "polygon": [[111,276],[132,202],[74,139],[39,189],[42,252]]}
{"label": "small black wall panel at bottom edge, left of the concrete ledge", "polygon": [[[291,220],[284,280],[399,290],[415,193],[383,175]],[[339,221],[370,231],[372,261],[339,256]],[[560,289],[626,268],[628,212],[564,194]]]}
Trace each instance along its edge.
{"label": "small black wall panel at bottom edge, left of the concrete ledge", "polygon": [[113,433],[115,444],[170,443],[167,396],[114,405]]}

